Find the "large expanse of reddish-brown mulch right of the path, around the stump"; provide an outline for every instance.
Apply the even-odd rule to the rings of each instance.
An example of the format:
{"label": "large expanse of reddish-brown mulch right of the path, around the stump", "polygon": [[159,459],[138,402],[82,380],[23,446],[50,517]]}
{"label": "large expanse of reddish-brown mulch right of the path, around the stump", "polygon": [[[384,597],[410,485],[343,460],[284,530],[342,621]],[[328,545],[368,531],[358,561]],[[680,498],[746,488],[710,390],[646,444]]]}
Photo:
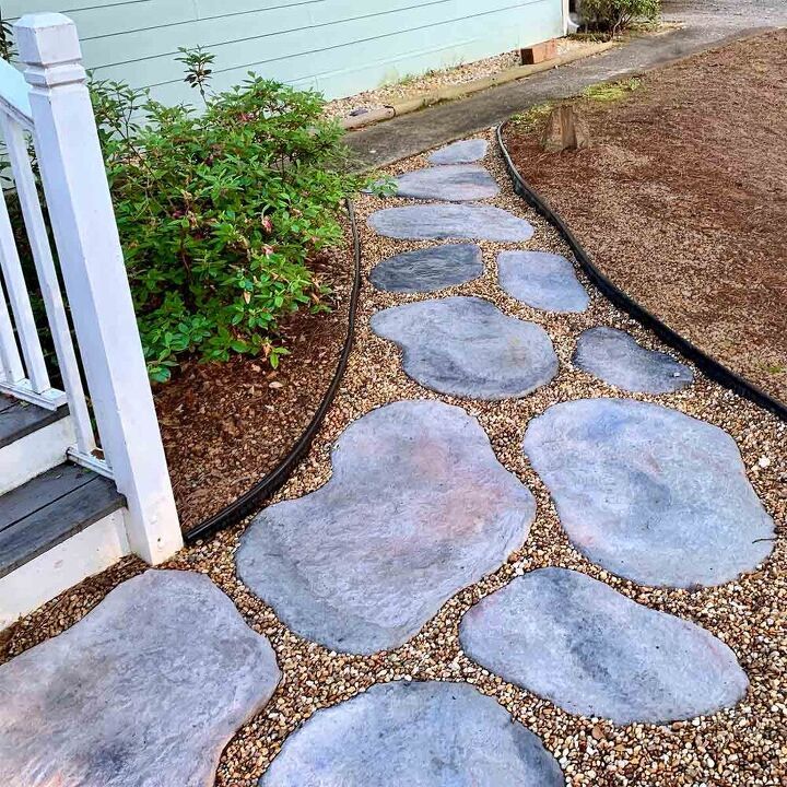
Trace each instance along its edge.
{"label": "large expanse of reddish-brown mulch right of the path, around the stump", "polygon": [[577,104],[589,150],[508,127],[525,179],[615,284],[787,402],[787,31]]}

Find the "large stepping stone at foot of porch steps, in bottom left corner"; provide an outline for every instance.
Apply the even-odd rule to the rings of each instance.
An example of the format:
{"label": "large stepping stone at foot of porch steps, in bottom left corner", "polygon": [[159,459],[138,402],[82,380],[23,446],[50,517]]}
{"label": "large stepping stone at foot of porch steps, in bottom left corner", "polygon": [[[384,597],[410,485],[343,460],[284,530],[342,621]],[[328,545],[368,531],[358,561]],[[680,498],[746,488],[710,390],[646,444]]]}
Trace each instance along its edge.
{"label": "large stepping stone at foot of porch steps, in bottom left corner", "polygon": [[207,787],[280,678],[207,576],[149,571],[0,667],[0,784]]}

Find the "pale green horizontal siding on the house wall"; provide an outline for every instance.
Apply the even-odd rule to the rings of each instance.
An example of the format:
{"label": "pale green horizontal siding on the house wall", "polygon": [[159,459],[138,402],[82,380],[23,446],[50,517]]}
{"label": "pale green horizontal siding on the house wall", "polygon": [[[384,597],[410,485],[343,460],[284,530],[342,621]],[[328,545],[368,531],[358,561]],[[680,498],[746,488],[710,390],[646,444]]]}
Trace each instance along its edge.
{"label": "pale green horizontal siding on the house wall", "polygon": [[563,0],[0,0],[3,16],[61,11],[98,79],[189,97],[178,47],[215,55],[213,86],[248,71],[328,97],[563,33]]}

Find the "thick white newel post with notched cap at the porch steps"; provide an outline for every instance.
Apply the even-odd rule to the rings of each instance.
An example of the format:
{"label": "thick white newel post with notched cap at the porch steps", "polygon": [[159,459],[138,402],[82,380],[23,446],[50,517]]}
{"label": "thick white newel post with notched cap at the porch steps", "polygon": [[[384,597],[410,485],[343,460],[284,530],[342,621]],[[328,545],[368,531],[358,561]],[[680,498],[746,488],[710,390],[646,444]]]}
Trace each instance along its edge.
{"label": "thick white newel post with notched cap at the porch steps", "polygon": [[130,516],[133,552],[183,545],[74,23],[14,25],[35,146],[98,434]]}

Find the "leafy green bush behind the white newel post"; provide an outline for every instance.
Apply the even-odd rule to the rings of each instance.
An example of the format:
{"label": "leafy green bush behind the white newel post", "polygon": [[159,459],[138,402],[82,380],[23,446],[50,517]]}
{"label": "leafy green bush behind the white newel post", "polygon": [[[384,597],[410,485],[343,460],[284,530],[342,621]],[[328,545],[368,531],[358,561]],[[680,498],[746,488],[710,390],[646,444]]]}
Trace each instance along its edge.
{"label": "leafy green bush behind the white newel post", "polygon": [[204,107],[165,106],[122,83],[92,85],[94,109],[151,377],[196,353],[265,355],[282,315],[326,309],[309,259],[342,239],[338,124],[322,98],[249,74],[207,90],[212,57],[185,51]]}

